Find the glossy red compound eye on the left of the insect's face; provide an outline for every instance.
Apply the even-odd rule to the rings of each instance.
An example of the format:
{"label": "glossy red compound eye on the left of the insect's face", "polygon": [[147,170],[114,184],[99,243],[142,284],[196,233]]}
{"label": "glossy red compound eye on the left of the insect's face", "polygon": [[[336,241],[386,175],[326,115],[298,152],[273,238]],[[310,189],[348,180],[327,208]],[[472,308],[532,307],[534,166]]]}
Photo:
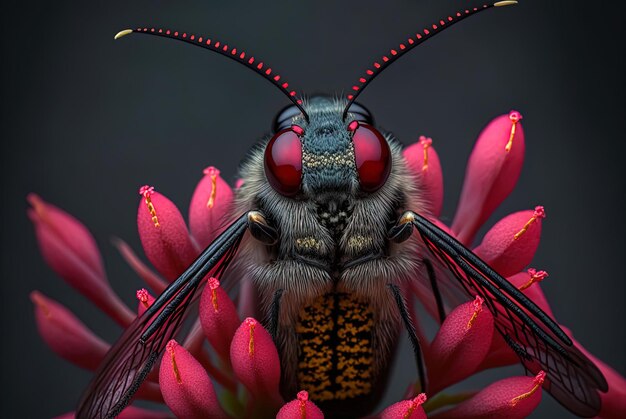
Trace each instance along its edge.
{"label": "glossy red compound eye on the left of the insect's face", "polygon": [[297,125],[279,131],[265,148],[265,176],[281,195],[294,196],[302,182],[302,143],[304,134]]}

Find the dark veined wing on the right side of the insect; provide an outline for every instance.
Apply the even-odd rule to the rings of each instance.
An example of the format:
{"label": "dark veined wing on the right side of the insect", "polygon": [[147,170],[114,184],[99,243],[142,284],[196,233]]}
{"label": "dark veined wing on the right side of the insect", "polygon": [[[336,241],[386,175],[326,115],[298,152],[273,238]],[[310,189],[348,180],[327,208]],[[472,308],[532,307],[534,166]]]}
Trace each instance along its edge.
{"label": "dark veined wing on the right side of the insect", "polygon": [[428,249],[456,278],[456,284],[469,296],[478,294],[485,300],[496,329],[526,371],[545,371],[543,387],[573,413],[597,415],[601,406],[598,390],[607,391],[606,379],[572,346],[554,320],[454,237],[417,214],[413,224]]}

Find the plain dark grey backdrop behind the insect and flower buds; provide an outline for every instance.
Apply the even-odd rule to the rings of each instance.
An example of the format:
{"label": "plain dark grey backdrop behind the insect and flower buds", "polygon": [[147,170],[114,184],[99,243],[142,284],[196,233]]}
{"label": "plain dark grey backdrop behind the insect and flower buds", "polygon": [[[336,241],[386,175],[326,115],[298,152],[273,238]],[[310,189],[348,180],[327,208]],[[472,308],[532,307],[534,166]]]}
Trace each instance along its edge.
{"label": "plain dark grey backdrop behind the insect and flower buds", "polygon": [[[186,213],[202,169],[217,165],[233,180],[240,158],[288,104],[230,60],[148,37],[114,42],[118,30],[146,24],[211,34],[263,57],[304,92],[335,93],[405,35],[468,5],[459,3],[4,5],[0,416],[39,418],[71,410],[90,376],[44,346],[31,290],[62,301],[107,339],[119,333],[44,265],[26,218],[26,194],[41,194],[89,226],[114,288],[134,306],[141,283],[109,239],[120,236],[140,248],[137,187],[155,185]],[[623,374],[621,4],[522,1],[487,11],[400,60],[360,100],[405,143],[420,134],[434,138],[448,219],[480,129],[512,108],[522,112],[526,163],[517,189],[491,222],[545,205],[548,218],[533,265],[550,272],[544,289],[554,312]],[[401,369],[412,374],[412,363],[403,362]],[[389,401],[400,397],[398,388]],[[565,416],[547,395],[537,412]]]}

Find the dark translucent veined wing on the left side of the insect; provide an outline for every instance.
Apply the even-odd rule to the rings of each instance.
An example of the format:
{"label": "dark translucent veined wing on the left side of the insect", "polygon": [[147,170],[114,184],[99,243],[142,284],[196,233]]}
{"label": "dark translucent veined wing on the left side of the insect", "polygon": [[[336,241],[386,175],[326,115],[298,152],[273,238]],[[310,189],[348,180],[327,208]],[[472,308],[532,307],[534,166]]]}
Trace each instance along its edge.
{"label": "dark translucent veined wing on the left side of the insect", "polygon": [[247,214],[233,222],[137,318],[109,350],[83,394],[78,419],[114,418],[131,401],[167,342],[180,329],[202,278],[219,278],[233,259],[247,229]]}

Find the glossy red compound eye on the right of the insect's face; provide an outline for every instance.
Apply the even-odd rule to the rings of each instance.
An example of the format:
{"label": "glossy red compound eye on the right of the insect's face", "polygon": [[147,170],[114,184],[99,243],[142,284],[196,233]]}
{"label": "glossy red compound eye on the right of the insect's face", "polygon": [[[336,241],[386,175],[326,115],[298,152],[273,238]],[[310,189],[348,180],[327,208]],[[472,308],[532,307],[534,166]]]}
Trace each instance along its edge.
{"label": "glossy red compound eye on the right of the insect's face", "polygon": [[356,169],[361,190],[374,192],[385,184],[391,171],[391,151],[383,135],[376,128],[363,122],[352,121]]}

